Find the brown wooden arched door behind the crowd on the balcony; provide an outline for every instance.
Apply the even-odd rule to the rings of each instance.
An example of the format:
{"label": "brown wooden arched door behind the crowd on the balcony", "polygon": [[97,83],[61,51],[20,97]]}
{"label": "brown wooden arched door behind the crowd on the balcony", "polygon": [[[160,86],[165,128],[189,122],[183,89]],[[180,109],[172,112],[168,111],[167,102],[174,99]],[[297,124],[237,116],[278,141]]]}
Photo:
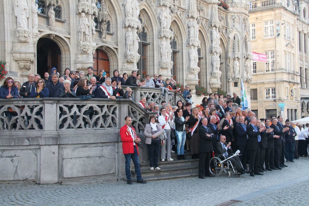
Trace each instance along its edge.
{"label": "brown wooden arched door behind the crowd on the balcony", "polygon": [[[98,74],[100,69],[104,69],[104,71],[106,72],[106,76],[110,77],[109,74],[109,59],[107,54],[100,50],[100,49],[96,49],[95,53],[93,54],[93,61],[95,62],[93,64],[93,73],[95,75]],[[112,75],[113,77],[113,75]]]}

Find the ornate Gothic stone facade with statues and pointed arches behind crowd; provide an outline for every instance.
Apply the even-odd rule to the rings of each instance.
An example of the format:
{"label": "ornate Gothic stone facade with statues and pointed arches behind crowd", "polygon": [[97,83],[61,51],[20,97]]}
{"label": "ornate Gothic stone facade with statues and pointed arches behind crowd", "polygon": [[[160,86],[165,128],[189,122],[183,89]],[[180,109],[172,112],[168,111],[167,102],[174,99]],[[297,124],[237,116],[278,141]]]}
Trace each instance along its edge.
{"label": "ornate Gothic stone facade with statues and pointed arches behind crowd", "polygon": [[[227,0],[3,0],[0,59],[9,76],[56,67],[163,74],[192,88],[240,90],[251,80],[249,3]],[[247,62],[247,63],[246,63]],[[248,68],[248,67],[246,67]],[[247,69],[248,70],[248,69]],[[247,95],[249,91],[247,92]]]}

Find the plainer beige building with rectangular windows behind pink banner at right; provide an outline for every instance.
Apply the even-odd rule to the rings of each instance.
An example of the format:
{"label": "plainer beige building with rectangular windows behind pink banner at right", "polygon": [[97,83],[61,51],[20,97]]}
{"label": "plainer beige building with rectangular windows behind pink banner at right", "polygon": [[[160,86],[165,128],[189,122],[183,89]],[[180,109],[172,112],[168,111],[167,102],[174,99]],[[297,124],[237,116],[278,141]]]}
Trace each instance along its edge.
{"label": "plainer beige building with rectangular windows behind pink banner at right", "polygon": [[309,95],[308,2],[250,2],[252,51],[267,54],[267,62],[252,61],[251,108],[265,118],[281,115],[284,103],[284,119],[299,119],[301,97]]}

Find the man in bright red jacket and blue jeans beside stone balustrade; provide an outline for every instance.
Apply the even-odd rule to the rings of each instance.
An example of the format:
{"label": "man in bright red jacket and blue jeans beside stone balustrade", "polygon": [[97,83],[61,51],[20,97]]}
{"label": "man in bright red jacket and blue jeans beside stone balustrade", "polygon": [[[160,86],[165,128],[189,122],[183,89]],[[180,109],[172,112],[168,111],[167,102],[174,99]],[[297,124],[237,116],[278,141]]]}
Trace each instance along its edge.
{"label": "man in bright red jacket and blue jeans beside stone balustrade", "polygon": [[132,119],[130,116],[125,117],[125,125],[120,128],[120,137],[122,141],[122,150],[125,155],[125,176],[127,177],[127,184],[133,184],[131,180],[131,158],[135,167],[135,174],[137,176],[137,183],[147,183],[142,179],[141,169],[138,159],[138,143],[141,141],[136,136],[134,128],[131,127]]}

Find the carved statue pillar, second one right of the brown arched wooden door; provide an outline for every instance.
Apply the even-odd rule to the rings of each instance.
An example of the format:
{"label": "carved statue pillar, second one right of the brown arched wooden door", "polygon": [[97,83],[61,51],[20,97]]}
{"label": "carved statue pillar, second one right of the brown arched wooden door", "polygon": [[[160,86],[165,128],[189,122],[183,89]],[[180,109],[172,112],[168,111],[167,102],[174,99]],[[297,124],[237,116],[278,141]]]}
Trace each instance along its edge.
{"label": "carved statue pillar, second one right of the brown arched wooden door", "polygon": [[170,6],[173,5],[172,0],[159,0],[159,52],[160,52],[160,68],[159,74],[163,79],[171,78],[171,69],[173,67],[171,40],[174,38],[171,27]]}

